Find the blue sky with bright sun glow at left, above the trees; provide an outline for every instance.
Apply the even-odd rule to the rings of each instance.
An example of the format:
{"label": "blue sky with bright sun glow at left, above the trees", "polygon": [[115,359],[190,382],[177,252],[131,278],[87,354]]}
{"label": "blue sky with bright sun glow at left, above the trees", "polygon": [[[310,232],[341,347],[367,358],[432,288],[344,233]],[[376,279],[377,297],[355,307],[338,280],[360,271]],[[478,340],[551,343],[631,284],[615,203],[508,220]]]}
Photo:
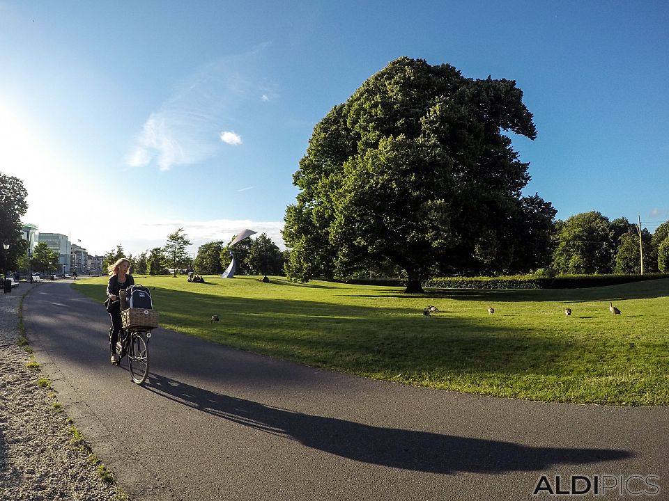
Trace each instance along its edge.
{"label": "blue sky with bright sun glow at left, above the trees", "polygon": [[[0,171],[25,221],[102,254],[183,227],[282,245],[314,125],[399,56],[514,79],[525,193],[669,219],[664,1],[0,0]],[[117,215],[117,223],[109,222]],[[81,242],[77,242],[81,240]]]}

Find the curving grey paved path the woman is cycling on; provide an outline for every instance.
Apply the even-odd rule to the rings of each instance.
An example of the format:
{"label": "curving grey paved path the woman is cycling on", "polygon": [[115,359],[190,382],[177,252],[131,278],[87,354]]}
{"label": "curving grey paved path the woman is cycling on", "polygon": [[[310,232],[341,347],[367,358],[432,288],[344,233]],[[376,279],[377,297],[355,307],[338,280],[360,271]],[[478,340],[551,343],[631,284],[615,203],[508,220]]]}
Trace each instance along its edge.
{"label": "curving grey paved path the woman is cycling on", "polygon": [[[59,401],[132,500],[620,500],[613,489],[548,488],[556,476],[565,491],[571,476],[610,485],[633,474],[658,475],[655,499],[669,499],[669,408],[413,388],[164,329],[138,386],[109,363],[102,305],[67,283],[34,289],[24,318]],[[636,478],[628,486],[656,490]]]}

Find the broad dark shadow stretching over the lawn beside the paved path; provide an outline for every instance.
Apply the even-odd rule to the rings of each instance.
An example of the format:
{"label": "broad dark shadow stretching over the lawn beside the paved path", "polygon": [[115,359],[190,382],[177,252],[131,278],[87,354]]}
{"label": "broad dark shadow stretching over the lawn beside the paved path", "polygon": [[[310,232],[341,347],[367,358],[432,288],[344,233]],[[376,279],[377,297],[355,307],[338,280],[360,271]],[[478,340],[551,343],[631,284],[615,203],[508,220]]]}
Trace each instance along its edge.
{"label": "broad dark shadow stretching over the lawn beside the paved path", "polygon": [[[178,291],[160,291],[162,326],[195,328],[208,340],[344,372],[560,374],[562,360],[579,348],[518,326],[426,319],[421,312],[407,317],[406,308],[202,294],[184,310],[180,301]],[[213,324],[211,312],[220,321]],[[199,326],[193,317],[201,318]]]}

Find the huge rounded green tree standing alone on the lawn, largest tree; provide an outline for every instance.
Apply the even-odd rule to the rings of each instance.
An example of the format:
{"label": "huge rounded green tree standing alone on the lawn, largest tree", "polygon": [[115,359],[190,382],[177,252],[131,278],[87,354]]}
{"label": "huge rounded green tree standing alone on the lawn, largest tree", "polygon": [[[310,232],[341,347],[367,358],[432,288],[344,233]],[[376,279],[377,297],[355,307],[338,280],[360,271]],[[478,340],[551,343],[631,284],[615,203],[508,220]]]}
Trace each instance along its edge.
{"label": "huge rounded green tree standing alone on the lawn, largest tree", "polygon": [[[514,81],[392,61],[316,127],[286,209],[286,272],[348,276],[390,260],[407,292],[444,269],[509,269],[537,232],[514,232],[530,179],[502,131],[535,138]],[[543,202],[543,201],[541,201]],[[543,238],[543,237],[541,237]]]}

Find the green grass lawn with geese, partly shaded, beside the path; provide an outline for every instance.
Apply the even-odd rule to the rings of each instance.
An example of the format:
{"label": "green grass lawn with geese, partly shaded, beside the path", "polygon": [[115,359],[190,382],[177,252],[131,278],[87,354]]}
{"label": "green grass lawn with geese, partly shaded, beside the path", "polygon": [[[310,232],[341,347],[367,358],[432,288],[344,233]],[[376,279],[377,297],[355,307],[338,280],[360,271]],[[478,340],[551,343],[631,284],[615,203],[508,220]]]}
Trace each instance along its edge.
{"label": "green grass lawn with geese, partly shaded, beside the path", "polygon": [[[399,287],[259,279],[135,281],[155,287],[161,327],[314,367],[498,397],[669,404],[669,280],[406,295]],[[102,303],[106,284],[89,278],[75,287]],[[611,316],[609,301],[622,316]],[[427,305],[440,312],[424,317]]]}

